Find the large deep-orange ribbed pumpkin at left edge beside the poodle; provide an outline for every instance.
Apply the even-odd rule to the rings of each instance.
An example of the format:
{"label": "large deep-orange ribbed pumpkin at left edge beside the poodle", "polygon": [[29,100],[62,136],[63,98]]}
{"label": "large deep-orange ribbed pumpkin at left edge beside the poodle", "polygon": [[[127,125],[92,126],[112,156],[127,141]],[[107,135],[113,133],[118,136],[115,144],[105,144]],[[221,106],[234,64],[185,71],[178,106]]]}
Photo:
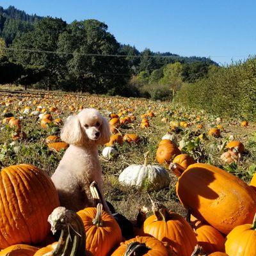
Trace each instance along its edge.
{"label": "large deep-orange ribbed pumpkin at left edge beside the poodle", "polygon": [[31,164],[0,172],[0,248],[36,244],[50,232],[49,214],[60,206],[51,179]]}

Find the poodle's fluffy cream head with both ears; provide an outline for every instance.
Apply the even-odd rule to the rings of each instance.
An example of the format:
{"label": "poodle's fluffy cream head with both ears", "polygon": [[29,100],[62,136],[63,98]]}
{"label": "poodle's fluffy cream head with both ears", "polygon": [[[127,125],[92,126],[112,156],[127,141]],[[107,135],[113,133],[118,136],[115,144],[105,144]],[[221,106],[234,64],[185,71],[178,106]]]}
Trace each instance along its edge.
{"label": "poodle's fluffy cream head with both ears", "polygon": [[108,120],[93,108],[68,116],[61,130],[61,140],[73,145],[86,145],[88,142],[103,145],[109,141],[109,136]]}

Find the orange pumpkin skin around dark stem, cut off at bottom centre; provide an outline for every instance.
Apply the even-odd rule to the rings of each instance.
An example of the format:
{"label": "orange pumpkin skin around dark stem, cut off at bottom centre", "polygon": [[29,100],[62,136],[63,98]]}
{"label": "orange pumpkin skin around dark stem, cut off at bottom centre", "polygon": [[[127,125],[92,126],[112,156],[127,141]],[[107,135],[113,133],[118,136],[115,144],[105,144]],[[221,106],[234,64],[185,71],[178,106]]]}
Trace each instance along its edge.
{"label": "orange pumpkin skin around dark stem, cut off at bottom centre", "polygon": [[145,243],[147,247],[151,248],[147,253],[143,254],[143,256],[169,256],[168,250],[164,246],[162,242],[157,240],[154,237],[147,236],[137,236],[130,240],[121,243],[120,246],[111,254],[111,256],[122,256],[127,249],[127,246],[131,243]]}

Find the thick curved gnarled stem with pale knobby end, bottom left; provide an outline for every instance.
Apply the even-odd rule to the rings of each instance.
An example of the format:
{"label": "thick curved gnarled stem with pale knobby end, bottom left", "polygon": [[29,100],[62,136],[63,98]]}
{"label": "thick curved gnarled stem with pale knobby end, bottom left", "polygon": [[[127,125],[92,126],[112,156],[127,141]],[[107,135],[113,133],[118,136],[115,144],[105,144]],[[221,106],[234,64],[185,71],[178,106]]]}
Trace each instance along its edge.
{"label": "thick curved gnarled stem with pale knobby end, bottom left", "polygon": [[54,256],[85,256],[85,232],[81,218],[76,212],[67,210],[65,207],[57,207],[48,217],[51,223],[51,231],[54,234],[61,230],[61,236]]}

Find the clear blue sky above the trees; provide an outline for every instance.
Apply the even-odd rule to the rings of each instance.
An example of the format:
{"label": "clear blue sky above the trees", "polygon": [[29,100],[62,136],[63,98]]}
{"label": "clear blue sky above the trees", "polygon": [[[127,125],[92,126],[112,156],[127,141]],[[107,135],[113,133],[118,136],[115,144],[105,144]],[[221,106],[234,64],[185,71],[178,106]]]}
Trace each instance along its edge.
{"label": "clear blue sky above the trees", "polygon": [[98,19],[123,44],[142,51],[211,56],[218,63],[256,54],[255,0],[1,0],[27,13]]}

